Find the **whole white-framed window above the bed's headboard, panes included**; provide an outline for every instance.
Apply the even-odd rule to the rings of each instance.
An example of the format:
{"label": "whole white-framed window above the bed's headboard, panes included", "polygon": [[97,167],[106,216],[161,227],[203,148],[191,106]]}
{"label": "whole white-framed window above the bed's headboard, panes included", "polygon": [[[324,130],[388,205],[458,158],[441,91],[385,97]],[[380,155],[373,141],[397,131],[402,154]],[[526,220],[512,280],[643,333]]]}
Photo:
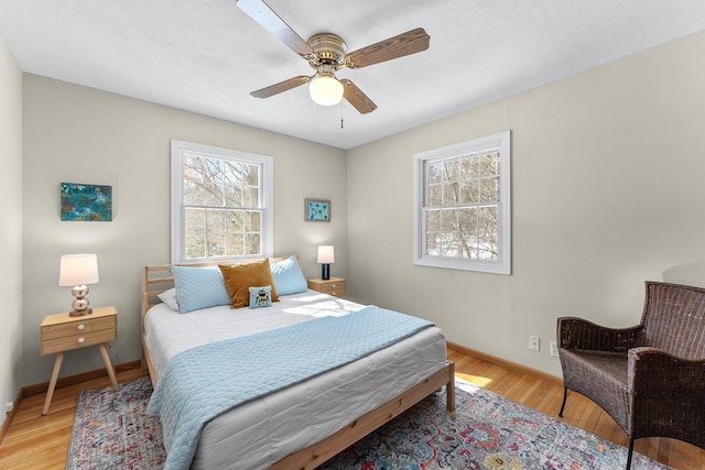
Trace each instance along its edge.
{"label": "whole white-framed window above the bed's headboard, panes included", "polygon": [[172,141],[172,263],[271,256],[273,160]]}

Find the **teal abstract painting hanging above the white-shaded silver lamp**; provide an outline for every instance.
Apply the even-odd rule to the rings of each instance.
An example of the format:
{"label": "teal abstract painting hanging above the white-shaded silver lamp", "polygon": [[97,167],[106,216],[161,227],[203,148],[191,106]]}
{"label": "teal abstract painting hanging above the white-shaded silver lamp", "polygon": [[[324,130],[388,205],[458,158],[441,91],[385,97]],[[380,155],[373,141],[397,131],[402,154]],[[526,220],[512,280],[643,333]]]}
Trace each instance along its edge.
{"label": "teal abstract painting hanging above the white-shaded silver lamp", "polygon": [[61,184],[62,220],[112,220],[112,186],[82,183]]}

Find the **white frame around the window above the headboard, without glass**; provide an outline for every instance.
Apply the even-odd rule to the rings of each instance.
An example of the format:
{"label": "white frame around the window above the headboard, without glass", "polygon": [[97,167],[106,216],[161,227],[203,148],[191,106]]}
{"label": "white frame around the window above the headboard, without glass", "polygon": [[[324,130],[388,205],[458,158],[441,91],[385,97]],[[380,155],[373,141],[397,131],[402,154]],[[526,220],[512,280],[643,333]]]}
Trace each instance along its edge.
{"label": "white frame around the window above the headboard, without glass", "polygon": [[[258,255],[208,258],[204,260],[186,260],[184,245],[184,194],[183,194],[183,157],[185,154],[199,155],[220,160],[236,160],[261,167],[260,209],[262,210],[262,253]],[[247,258],[270,258],[274,252],[274,159],[236,150],[221,149],[193,142],[171,141],[172,172],[172,264],[197,261],[225,261]]]}

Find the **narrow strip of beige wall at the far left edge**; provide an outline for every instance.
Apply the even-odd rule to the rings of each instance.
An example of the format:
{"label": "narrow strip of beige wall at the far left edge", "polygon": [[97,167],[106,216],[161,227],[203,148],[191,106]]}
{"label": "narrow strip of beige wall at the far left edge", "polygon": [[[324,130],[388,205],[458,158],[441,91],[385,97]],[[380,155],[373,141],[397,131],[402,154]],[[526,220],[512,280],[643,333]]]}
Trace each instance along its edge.
{"label": "narrow strip of beige wall at the far left edge", "polygon": [[[0,404],[20,387],[22,348],[22,73],[0,34]],[[0,423],[6,418],[0,414]]]}

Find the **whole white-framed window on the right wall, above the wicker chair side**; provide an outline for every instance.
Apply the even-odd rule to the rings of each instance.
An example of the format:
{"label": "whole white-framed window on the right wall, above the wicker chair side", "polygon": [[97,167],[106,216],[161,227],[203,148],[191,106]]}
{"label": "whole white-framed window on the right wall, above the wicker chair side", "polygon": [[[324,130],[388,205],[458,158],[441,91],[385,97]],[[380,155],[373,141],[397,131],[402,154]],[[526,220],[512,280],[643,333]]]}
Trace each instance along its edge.
{"label": "whole white-framed window on the right wall, above the wicker chair side", "polygon": [[511,273],[510,132],[414,155],[414,264]]}

